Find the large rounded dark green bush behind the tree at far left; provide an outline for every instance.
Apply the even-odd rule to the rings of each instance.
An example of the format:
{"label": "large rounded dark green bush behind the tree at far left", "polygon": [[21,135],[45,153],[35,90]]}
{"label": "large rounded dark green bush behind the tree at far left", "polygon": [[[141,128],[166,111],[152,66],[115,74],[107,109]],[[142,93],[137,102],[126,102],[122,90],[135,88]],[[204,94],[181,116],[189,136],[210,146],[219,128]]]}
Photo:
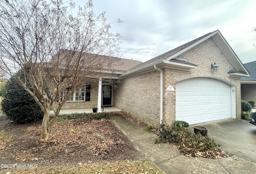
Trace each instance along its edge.
{"label": "large rounded dark green bush behind the tree at far left", "polygon": [[[19,71],[16,74],[17,76],[22,80],[25,79],[22,71]],[[3,97],[1,103],[2,111],[8,119],[16,123],[30,123],[42,119],[44,116],[34,98],[12,77],[5,85]]]}

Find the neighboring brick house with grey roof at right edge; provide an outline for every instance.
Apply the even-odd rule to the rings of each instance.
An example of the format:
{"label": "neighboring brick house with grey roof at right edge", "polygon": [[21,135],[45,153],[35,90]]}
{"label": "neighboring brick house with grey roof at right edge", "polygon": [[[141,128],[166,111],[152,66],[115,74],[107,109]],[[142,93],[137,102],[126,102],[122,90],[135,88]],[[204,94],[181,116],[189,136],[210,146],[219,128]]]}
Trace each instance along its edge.
{"label": "neighboring brick house with grey roof at right edge", "polygon": [[241,97],[242,100],[256,102],[256,61],[245,63],[244,66],[250,77],[241,78]]}

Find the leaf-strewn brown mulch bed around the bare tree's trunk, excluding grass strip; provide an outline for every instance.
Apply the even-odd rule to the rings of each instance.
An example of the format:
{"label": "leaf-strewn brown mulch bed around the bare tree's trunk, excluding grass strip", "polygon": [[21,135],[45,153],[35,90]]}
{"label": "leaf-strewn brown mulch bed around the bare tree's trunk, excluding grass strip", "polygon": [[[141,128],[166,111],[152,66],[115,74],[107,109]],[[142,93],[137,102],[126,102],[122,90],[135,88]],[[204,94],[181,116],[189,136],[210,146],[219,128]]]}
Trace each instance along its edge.
{"label": "leaf-strewn brown mulch bed around the bare tree's trunk, excluding grass strip", "polygon": [[0,164],[53,166],[143,158],[111,120],[56,122],[47,142],[39,141],[41,123],[17,125],[0,115]]}

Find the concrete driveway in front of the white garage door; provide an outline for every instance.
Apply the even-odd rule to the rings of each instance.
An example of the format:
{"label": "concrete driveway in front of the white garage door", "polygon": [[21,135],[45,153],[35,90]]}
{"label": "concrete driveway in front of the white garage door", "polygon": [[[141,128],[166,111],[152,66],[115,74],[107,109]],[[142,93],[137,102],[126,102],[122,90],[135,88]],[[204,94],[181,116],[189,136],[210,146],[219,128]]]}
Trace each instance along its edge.
{"label": "concrete driveway in front of the white garage door", "polygon": [[[241,119],[226,119],[211,123],[196,124],[208,129],[220,149],[256,163],[256,126]],[[189,129],[194,132],[194,126]]]}

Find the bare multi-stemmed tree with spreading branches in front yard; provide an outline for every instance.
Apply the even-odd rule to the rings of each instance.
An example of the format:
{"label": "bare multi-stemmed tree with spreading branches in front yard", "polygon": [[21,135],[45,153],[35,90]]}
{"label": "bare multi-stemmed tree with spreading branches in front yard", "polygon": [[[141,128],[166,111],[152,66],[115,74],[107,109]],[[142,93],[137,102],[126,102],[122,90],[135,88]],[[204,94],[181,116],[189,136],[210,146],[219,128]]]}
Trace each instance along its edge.
{"label": "bare multi-stemmed tree with spreading branches in front yard", "polygon": [[[94,81],[110,67],[119,52],[120,34],[112,34],[105,12],[95,15],[92,0],[84,8],[61,0],[0,0],[0,56],[10,77],[23,69],[30,83],[16,81],[34,97],[44,112],[41,140],[57,119],[61,107],[80,85]],[[116,23],[121,23],[117,20]],[[47,96],[45,85],[50,85]],[[30,90],[33,89],[33,90]],[[54,117],[50,109],[56,104]]]}

